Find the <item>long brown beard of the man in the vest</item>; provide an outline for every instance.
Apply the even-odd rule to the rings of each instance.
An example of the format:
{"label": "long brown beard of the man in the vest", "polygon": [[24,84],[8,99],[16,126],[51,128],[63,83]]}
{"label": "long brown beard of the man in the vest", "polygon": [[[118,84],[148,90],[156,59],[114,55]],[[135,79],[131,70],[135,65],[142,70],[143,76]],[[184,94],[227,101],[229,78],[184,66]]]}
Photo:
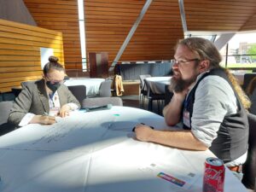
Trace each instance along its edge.
{"label": "long brown beard of the man in the vest", "polygon": [[196,76],[187,80],[183,80],[180,77],[179,78],[172,77],[169,90],[171,90],[172,92],[174,91],[176,93],[180,93],[183,90],[187,90],[189,86],[195,82],[195,79],[196,79]]}

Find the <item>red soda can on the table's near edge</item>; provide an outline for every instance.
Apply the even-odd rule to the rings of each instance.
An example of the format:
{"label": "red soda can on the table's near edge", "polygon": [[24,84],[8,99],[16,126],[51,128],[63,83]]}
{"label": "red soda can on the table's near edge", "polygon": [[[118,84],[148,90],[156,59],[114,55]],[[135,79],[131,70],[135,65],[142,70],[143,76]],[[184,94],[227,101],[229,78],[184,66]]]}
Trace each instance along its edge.
{"label": "red soda can on the table's near edge", "polygon": [[224,191],[225,167],[222,160],[209,157],[205,162],[203,192]]}

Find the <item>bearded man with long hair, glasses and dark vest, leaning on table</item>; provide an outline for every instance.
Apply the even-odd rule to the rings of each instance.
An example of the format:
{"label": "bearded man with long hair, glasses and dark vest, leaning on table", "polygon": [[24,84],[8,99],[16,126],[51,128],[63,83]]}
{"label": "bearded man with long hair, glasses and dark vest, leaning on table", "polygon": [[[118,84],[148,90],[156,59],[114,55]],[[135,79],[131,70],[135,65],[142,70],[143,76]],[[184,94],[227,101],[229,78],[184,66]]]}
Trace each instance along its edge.
{"label": "bearded man with long hair, glasses and dark vest, leaning on table", "polygon": [[167,125],[182,122],[183,130],[158,131],[137,125],[137,139],[173,148],[209,148],[231,171],[241,172],[247,159],[250,102],[236,79],[220,67],[222,56],[209,40],[183,39],[174,58],[170,85],[174,95],[163,114]]}

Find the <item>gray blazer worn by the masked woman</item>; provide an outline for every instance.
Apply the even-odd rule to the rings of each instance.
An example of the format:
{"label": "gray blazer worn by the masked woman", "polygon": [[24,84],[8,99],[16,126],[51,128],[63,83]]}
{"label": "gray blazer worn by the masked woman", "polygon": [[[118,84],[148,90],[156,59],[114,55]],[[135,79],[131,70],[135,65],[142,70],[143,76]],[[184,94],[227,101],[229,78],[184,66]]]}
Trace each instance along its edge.
{"label": "gray blazer worn by the masked woman", "polygon": [[[80,107],[79,101],[68,90],[67,86],[61,84],[58,95],[61,107],[67,103],[73,102]],[[20,95],[15,99],[15,104],[9,113],[9,123],[20,124],[20,120],[26,113],[42,115],[49,113],[49,99],[44,86],[44,79],[29,82],[23,86]]]}

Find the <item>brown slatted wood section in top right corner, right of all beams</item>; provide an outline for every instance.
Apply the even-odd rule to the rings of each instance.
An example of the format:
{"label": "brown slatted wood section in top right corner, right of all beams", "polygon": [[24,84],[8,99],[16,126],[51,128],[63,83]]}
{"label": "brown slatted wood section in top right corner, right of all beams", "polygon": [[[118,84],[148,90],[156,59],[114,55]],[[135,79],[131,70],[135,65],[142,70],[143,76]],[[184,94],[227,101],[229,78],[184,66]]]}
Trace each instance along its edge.
{"label": "brown slatted wood section in top right corner, right of all beams", "polygon": [[189,0],[184,9],[189,31],[238,32],[256,14],[256,1]]}

